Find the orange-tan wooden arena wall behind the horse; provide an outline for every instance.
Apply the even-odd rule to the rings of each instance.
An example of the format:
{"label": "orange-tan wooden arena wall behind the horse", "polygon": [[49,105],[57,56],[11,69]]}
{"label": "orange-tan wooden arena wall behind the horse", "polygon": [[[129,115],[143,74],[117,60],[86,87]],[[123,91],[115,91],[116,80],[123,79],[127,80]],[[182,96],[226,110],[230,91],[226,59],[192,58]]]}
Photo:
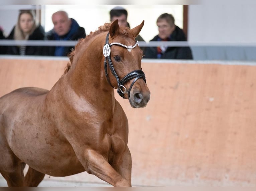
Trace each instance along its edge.
{"label": "orange-tan wooden arena wall behind the horse", "polygon": [[[67,63],[0,58],[0,96],[50,89]],[[133,186],[256,186],[256,63],[143,60],[142,69],[148,105],[116,95],[129,120]],[[49,180],[106,185],[86,172]]]}

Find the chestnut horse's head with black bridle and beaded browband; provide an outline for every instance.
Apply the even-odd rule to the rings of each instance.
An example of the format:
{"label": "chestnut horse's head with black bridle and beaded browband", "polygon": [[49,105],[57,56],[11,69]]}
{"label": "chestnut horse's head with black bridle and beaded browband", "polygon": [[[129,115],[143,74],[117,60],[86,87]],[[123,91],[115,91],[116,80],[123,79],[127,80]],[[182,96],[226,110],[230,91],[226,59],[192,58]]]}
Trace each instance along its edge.
{"label": "chestnut horse's head with black bridle and beaded browband", "polygon": [[[129,99],[132,107],[145,107],[150,98],[145,74],[141,68],[143,51],[135,37],[139,35],[144,20],[133,29],[119,27],[115,20],[106,36],[103,47],[105,74],[109,84],[123,98]],[[111,75],[112,73],[113,75]]]}

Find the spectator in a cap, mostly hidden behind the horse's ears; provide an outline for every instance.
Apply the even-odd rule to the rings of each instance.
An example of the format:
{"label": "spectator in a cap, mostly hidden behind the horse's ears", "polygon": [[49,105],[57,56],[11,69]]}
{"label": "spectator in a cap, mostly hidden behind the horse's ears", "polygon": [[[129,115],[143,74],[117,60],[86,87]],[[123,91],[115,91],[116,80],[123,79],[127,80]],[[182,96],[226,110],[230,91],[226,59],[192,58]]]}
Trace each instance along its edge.
{"label": "spectator in a cap, mostly hidden behind the horse's ears", "polygon": [[[115,20],[118,20],[118,24],[121,27],[128,27],[130,28],[130,24],[127,22],[127,17],[128,17],[128,12],[126,9],[123,7],[114,7],[113,9],[110,10],[110,21],[111,23]],[[135,38],[136,41],[144,41],[143,38],[138,35]],[[144,47],[141,47],[143,50]]]}

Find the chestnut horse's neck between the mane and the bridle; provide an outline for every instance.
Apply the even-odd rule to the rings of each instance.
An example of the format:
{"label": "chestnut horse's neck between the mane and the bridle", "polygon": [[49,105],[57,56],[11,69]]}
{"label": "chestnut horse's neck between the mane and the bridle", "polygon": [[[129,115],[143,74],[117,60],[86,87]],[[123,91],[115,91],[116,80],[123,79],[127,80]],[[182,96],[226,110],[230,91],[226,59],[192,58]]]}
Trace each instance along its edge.
{"label": "chestnut horse's neck between the mane and the bridle", "polygon": [[102,39],[97,37],[91,39],[87,42],[89,45],[78,52],[77,59],[73,60],[75,66],[67,73],[68,80],[66,82],[70,84],[77,95],[91,97],[96,101],[99,101],[100,98],[103,100],[113,99],[114,95],[113,88],[105,77],[104,58],[100,48],[100,45],[105,43],[105,39]]}

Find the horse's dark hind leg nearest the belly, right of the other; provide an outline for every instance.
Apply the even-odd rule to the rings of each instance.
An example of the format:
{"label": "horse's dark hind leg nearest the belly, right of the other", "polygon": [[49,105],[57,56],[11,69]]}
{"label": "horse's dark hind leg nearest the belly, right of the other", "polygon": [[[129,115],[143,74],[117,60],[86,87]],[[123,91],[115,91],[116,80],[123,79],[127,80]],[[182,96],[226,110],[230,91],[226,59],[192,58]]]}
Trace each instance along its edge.
{"label": "horse's dark hind leg nearest the belly, right of the other", "polygon": [[45,174],[29,167],[25,176],[24,186],[38,186],[38,184],[43,180],[44,175]]}

